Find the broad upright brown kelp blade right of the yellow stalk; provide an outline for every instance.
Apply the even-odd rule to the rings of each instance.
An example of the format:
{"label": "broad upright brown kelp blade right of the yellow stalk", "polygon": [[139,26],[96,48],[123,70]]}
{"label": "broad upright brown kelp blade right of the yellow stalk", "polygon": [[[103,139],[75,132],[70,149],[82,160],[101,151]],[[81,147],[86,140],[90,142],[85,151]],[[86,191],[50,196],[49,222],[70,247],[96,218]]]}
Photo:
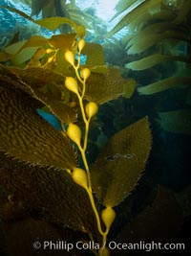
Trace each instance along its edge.
{"label": "broad upright brown kelp blade right of the yellow stalk", "polygon": [[116,206],[135,188],[151,150],[147,118],[122,129],[92,166],[92,184],[104,205]]}

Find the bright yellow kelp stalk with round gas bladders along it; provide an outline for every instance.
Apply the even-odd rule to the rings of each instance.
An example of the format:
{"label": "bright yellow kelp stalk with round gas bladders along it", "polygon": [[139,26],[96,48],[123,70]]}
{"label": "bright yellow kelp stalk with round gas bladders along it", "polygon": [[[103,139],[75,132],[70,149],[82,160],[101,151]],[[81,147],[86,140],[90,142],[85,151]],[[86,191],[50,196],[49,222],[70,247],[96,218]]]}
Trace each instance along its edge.
{"label": "bright yellow kelp stalk with round gas bladders along it", "polygon": [[[89,165],[87,162],[86,158],[86,149],[87,149],[87,143],[88,143],[88,134],[89,134],[89,127],[90,127],[90,121],[93,116],[96,115],[96,112],[98,111],[98,105],[94,102],[89,102],[87,105],[84,106],[84,95],[86,91],[86,81],[91,75],[91,71],[88,68],[83,68],[80,70],[80,56],[81,56],[81,51],[85,46],[85,40],[81,38],[78,41],[77,47],[77,63],[75,64],[74,61],[74,53],[70,50],[68,50],[65,53],[65,59],[73,66],[75,76],[77,81],[79,81],[82,84],[82,89],[81,91],[79,90],[79,86],[77,84],[77,81],[73,78],[66,78],[65,85],[66,87],[74,92],[78,98],[83,122],[85,124],[85,135],[84,135],[84,142],[83,145],[81,146],[81,130],[78,126],[74,124],[69,124],[69,128],[67,129],[67,134],[69,138],[74,141],[74,143],[77,145],[79,151],[81,152],[81,156],[83,159],[83,163],[85,166],[85,170],[82,170],[80,168],[75,167],[72,173],[72,177],[74,179],[74,182],[83,187],[92,204],[92,208],[94,210],[95,216],[96,216],[96,223],[97,223],[97,229],[100,235],[102,236],[102,245],[101,248],[98,251],[98,255],[109,255],[109,249],[105,246],[106,241],[107,241],[107,235],[109,233],[110,227],[112,222],[116,218],[116,213],[114,209],[111,206],[106,206],[106,208],[102,211],[101,214],[101,219],[105,224],[105,231],[102,230],[101,227],[101,221],[99,214],[96,209],[96,203],[95,203],[95,198],[93,196],[93,190],[92,190],[92,184],[91,184],[91,177],[90,177],[90,169]],[[90,235],[90,237],[92,237]],[[93,238],[91,238],[93,240]]]}

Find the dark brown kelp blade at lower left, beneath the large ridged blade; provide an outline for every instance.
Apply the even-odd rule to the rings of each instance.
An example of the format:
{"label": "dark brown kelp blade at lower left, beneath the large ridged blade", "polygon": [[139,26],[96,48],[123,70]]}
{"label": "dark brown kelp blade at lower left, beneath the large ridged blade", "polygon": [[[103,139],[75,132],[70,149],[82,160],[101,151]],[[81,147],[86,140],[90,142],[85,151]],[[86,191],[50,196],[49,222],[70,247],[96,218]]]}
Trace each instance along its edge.
{"label": "dark brown kelp blade at lower left, beneath the large ridged blade", "polygon": [[[27,165],[12,160],[1,151],[0,163],[0,191],[3,189],[5,193],[0,194],[0,216],[3,220],[18,222],[33,216],[33,213],[36,216],[38,212],[40,220],[49,220],[74,230],[92,230],[96,235],[90,199],[66,171]],[[10,202],[9,195],[16,199]]]}

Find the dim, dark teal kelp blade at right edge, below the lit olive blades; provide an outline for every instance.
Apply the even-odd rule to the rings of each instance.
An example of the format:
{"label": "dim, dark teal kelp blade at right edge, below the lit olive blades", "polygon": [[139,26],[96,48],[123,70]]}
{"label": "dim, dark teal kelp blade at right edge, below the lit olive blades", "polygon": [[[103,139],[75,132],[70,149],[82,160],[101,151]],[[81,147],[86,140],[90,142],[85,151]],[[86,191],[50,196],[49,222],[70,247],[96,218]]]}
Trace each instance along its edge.
{"label": "dim, dark teal kelp blade at right edge, below the lit olive blades", "polygon": [[166,131],[182,134],[191,134],[191,110],[180,109],[168,112],[159,112],[159,125]]}

